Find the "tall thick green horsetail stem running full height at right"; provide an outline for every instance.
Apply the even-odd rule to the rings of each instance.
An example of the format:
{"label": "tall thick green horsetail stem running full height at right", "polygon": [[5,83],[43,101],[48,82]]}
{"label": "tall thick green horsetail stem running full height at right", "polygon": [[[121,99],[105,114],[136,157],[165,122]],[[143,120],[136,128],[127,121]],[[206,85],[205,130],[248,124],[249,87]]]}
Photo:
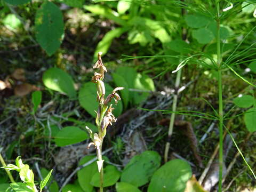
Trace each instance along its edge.
{"label": "tall thick green horsetail stem running full height at right", "polygon": [[219,189],[222,191],[222,167],[223,167],[223,101],[222,101],[222,78],[221,78],[221,52],[220,52],[220,4],[215,1],[217,21],[217,65],[218,65],[218,91],[219,91]]}

